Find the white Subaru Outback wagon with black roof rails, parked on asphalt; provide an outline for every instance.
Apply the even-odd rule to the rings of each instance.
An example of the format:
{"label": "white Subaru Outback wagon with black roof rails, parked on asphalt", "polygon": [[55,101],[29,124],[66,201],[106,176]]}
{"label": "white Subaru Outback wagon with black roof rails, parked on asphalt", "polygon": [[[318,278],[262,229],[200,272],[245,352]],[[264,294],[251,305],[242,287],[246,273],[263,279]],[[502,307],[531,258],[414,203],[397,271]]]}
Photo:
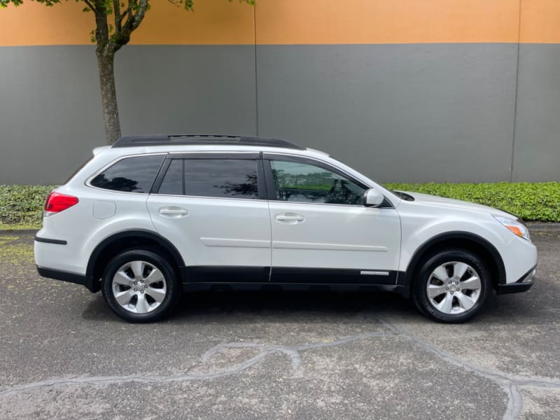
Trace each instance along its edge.
{"label": "white Subaru Outback wagon with black roof rails, parked on asphalt", "polygon": [[39,274],[102,290],[132,322],[183,290],[394,290],[437,321],[533,285],[537,251],[503,211],[391,191],[327,154],[230,136],[123,137],[50,193]]}

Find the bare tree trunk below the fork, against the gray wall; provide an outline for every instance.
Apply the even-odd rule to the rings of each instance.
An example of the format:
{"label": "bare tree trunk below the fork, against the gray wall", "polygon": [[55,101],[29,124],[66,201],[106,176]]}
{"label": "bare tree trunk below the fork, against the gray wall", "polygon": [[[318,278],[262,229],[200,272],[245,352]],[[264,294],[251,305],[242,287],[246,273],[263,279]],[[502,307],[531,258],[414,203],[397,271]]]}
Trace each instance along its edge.
{"label": "bare tree trunk below the fork, against the gray wall", "polygon": [[115,53],[109,48],[97,51],[99,66],[99,84],[107,144],[115,143],[120,137],[120,120],[118,118],[117,91],[115,89]]}

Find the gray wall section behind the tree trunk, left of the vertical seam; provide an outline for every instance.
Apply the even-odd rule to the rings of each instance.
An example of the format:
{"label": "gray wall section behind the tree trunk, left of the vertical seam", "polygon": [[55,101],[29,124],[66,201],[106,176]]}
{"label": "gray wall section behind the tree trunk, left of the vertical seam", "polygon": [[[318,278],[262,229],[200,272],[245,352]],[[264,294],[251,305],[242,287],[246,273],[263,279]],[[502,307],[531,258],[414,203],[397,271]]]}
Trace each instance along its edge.
{"label": "gray wall section behind the tree trunk, left of the vertical seam", "polygon": [[[62,183],[106,144],[93,46],[0,47],[0,74],[0,184]],[[116,83],[123,134],[256,134],[251,45],[129,46]]]}

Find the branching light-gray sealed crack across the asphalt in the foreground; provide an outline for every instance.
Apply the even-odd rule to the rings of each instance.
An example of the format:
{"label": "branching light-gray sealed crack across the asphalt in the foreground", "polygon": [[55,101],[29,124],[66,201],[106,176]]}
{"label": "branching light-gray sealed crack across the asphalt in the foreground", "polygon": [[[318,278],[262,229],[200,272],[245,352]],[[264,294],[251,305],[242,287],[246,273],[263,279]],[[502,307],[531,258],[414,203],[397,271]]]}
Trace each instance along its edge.
{"label": "branching light-gray sealed crack across the asphalt in the foreground", "polygon": [[[209,379],[217,379],[221,377],[230,376],[232,374],[237,374],[243,372],[244,370],[252,367],[267,358],[272,354],[283,354],[288,356],[291,360],[291,365],[293,370],[297,370],[302,361],[301,351],[311,350],[311,349],[322,349],[325,347],[340,346],[344,344],[349,344],[351,342],[357,342],[364,339],[370,339],[373,337],[402,337],[407,339],[409,342],[420,346],[424,350],[432,353],[444,360],[445,362],[463,368],[469,372],[478,374],[481,377],[490,379],[494,383],[498,384],[503,388],[503,391],[507,395],[507,405],[505,413],[503,414],[503,420],[517,420],[521,415],[523,409],[523,395],[521,393],[521,388],[524,386],[528,387],[539,387],[539,388],[560,388],[560,380],[554,379],[542,379],[535,377],[518,377],[515,375],[506,374],[504,372],[499,372],[496,370],[486,369],[484,367],[479,367],[472,365],[465,360],[461,360],[457,356],[440,349],[433,344],[430,344],[419,337],[412,335],[407,330],[399,328],[392,323],[386,321],[384,318],[377,318],[377,321],[381,323],[387,331],[379,332],[365,332],[362,334],[349,335],[342,337],[330,342],[316,342],[310,344],[301,344],[299,346],[285,346],[285,345],[272,345],[272,344],[260,344],[260,343],[250,343],[250,342],[232,342],[226,344],[218,344],[211,349],[207,350],[200,357],[202,363],[207,362],[217,353],[225,349],[260,349],[260,352],[248,358],[244,362],[237,363],[230,367],[227,367],[218,372],[209,373],[184,373],[184,374],[169,374],[169,375],[121,375],[121,376],[97,376],[97,377],[74,377],[74,378],[55,378],[46,379],[45,381],[31,382],[29,384],[24,384],[20,386],[13,386],[10,388],[3,389],[0,391],[0,398],[7,398],[19,393],[27,391],[36,391],[41,388],[48,387],[59,387],[59,386],[71,386],[71,385],[94,385],[94,384],[124,384],[127,382],[138,382],[138,383],[165,383],[165,382],[177,382],[177,381],[201,381]],[[193,366],[190,368],[192,371]]]}

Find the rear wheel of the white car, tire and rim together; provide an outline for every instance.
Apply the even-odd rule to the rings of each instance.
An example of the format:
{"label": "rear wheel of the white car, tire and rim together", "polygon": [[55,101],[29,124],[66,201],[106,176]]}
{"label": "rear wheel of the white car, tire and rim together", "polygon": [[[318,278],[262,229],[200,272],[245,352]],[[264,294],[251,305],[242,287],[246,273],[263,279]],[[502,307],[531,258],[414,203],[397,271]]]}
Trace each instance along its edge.
{"label": "rear wheel of the white car, tire and rim together", "polygon": [[169,262],[158,253],[139,249],[117,255],[103,274],[102,292],[113,311],[130,322],[163,318],[179,298]]}

